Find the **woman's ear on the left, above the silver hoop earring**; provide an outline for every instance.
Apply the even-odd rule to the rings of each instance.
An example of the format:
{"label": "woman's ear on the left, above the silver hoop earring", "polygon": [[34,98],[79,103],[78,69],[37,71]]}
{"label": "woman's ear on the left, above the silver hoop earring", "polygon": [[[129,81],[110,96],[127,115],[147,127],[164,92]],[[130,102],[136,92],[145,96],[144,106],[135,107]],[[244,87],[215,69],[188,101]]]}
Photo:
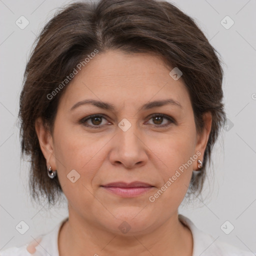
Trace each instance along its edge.
{"label": "woman's ear on the left, above the silver hoop earring", "polygon": [[56,169],[56,161],[54,157],[53,139],[49,128],[43,122],[41,117],[35,120],[35,131],[39,140],[41,151],[46,159],[47,168],[51,166],[52,170]]}

